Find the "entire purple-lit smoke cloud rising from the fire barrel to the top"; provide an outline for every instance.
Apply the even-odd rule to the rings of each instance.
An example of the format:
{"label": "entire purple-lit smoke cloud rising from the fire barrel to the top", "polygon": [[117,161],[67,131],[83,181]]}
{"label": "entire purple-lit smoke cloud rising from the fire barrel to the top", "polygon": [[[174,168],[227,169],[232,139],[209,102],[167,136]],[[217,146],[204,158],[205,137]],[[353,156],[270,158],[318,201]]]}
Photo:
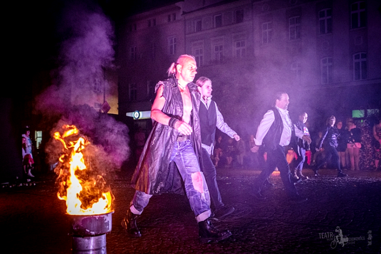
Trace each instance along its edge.
{"label": "entire purple-lit smoke cloud rising from the fire barrel to the top", "polygon": [[[60,67],[54,84],[36,97],[35,113],[60,119],[51,134],[75,125],[96,147],[93,161],[119,168],[130,154],[127,126],[86,105],[108,90],[104,72],[113,67],[113,26],[98,6],[85,1],[67,2],[60,18]],[[45,150],[49,163],[56,163],[61,148],[54,139]]]}

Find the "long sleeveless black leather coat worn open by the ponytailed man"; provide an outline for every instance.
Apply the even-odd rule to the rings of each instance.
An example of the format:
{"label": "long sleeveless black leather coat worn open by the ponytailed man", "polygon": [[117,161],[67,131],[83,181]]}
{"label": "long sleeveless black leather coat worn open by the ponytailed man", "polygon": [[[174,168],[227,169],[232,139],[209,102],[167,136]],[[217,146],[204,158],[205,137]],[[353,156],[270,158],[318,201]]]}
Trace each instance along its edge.
{"label": "long sleeveless black leather coat worn open by the ponytailed man", "polygon": [[[171,77],[166,81],[159,82],[155,87],[156,91],[160,85],[164,85],[163,96],[166,99],[162,111],[171,117],[180,119],[183,116],[183,100],[177,87],[177,80]],[[191,126],[193,132],[190,139],[202,169],[201,131],[198,117],[201,95],[197,91],[195,84],[189,83],[188,88],[192,100]],[[174,165],[169,167],[170,155],[179,133],[168,125],[162,125],[158,122],[153,123],[138,165],[132,175],[131,186],[135,190],[147,194],[183,193],[180,173]]]}

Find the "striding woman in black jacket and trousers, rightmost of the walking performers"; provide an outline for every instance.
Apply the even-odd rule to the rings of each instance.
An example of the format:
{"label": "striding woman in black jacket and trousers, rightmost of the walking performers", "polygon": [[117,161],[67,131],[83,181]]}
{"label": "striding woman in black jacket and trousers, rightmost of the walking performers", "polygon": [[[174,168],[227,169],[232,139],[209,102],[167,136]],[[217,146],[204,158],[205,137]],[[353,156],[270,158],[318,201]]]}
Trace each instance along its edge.
{"label": "striding woman in black jacket and trousers, rightmost of the walking performers", "polygon": [[339,136],[339,130],[337,127],[335,127],[336,117],[330,116],[327,119],[327,126],[325,127],[323,131],[323,136],[321,137],[319,141],[319,146],[317,150],[321,150],[321,148],[324,148],[324,159],[320,160],[314,170],[315,175],[318,174],[318,169],[320,169],[321,166],[324,165],[324,163],[329,161],[332,158],[334,167],[338,169],[338,177],[345,177],[348,176],[347,174],[344,174],[341,171],[340,162],[339,162],[339,153],[336,150],[338,147],[338,136]]}

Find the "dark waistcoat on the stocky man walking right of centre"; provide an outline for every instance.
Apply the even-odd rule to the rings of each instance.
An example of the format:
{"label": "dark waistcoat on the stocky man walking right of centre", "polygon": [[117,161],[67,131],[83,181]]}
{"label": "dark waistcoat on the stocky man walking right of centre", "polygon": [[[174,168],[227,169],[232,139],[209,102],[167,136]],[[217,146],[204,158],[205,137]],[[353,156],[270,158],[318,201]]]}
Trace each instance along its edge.
{"label": "dark waistcoat on the stocky man walking right of centre", "polygon": [[276,107],[273,107],[271,110],[274,111],[275,119],[266,136],[263,138],[263,145],[266,149],[275,150],[279,146],[280,137],[282,136],[283,121]]}

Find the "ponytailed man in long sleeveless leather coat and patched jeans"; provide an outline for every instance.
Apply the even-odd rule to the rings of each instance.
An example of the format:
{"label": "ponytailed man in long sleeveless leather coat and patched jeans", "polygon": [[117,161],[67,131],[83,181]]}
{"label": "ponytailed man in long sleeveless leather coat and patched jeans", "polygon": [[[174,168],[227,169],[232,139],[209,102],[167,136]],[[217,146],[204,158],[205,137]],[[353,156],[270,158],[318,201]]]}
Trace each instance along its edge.
{"label": "ponytailed man in long sleeveless leather coat and patched jeans", "polygon": [[194,57],[182,55],[169,67],[169,79],[155,86],[156,97],[151,108],[154,123],[131,179],[135,194],[122,221],[130,236],[141,236],[136,219],[152,195],[181,193],[184,187],[202,243],[220,241],[232,234],[212,225],[208,186],[200,170],[201,96],[192,83],[196,69]]}

